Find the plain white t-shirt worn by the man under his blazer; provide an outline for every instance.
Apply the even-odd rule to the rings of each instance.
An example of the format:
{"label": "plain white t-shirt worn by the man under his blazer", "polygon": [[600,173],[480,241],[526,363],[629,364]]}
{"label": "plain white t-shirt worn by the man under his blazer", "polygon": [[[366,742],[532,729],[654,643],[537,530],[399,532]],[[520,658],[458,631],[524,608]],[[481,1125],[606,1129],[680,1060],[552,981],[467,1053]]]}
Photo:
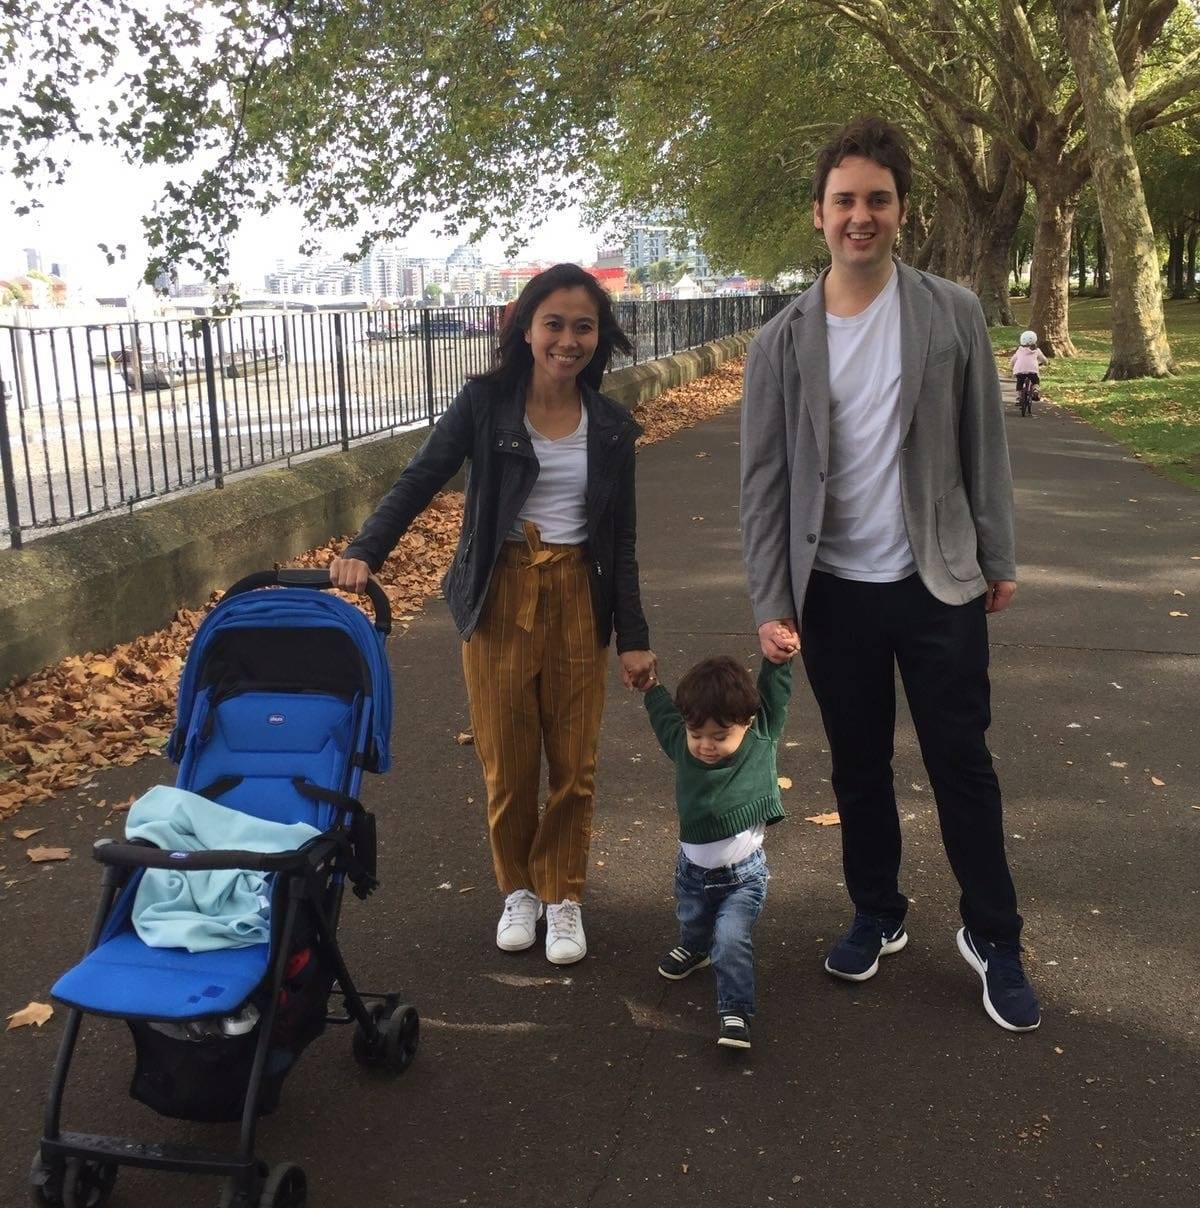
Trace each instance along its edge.
{"label": "plain white t-shirt worn by the man under his blazer", "polygon": [[825,315],[829,469],[815,565],[888,583],[916,570],[900,503],[900,294],[897,273],[860,314]]}

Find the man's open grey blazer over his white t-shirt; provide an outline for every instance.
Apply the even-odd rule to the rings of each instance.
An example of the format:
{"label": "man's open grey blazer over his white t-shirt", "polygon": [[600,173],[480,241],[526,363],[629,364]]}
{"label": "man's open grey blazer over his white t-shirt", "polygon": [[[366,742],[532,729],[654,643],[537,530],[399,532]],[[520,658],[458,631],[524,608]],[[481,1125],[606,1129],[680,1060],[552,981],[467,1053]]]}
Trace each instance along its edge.
{"label": "man's open grey blazer over his white t-shirt", "polygon": [[[966,604],[1015,579],[1013,477],[979,300],[895,262],[900,496],[924,586]],[[825,274],[759,332],[742,400],[742,548],[758,625],[804,612],[825,510]]]}

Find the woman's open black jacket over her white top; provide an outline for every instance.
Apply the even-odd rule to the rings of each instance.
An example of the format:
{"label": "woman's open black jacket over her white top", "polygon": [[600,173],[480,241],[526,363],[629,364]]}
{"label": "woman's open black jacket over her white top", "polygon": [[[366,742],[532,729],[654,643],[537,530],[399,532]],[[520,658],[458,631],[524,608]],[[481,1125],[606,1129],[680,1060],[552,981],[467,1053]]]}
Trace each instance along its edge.
{"label": "woman's open black jacket over her white top", "polygon": [[[596,629],[602,646],[616,631],[619,654],[648,650],[633,489],[634,441],[642,429],[611,399],[582,383],[580,390],[587,407],[586,556]],[[538,477],[538,458],[524,429],[523,385],[504,397],[486,382],[468,382],[344,553],[378,570],[468,458],[463,530],[442,580],[464,640],[475,632],[503,542]]]}

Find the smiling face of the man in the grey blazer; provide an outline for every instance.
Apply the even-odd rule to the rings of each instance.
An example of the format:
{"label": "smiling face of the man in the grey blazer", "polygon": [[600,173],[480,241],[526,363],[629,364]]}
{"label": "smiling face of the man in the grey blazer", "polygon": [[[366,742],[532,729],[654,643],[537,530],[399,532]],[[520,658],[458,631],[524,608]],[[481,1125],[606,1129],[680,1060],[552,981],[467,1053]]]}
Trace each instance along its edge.
{"label": "smiling face of the man in the grey blazer", "polygon": [[856,275],[887,263],[904,215],[892,169],[857,155],[829,173],[824,197],[812,203],[812,225],[824,233],[834,267]]}

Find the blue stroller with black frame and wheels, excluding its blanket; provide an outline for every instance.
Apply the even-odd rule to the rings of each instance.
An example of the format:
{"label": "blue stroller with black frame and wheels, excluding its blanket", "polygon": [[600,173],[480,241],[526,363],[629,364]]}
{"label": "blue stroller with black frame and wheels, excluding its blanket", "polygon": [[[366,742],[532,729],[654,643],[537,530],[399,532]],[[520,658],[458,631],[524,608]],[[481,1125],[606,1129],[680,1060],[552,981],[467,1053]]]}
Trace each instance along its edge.
{"label": "blue stroller with black frame and wheels, excluding its blanket", "polygon": [[[377,884],[375,819],[355,795],[364,771],[389,763],[392,618],[375,583],[373,626],[324,594],[329,586],[325,571],[311,570],[234,583],[192,641],[167,747],[179,788],[320,834],[269,854],[95,844],[104,881],[87,954],[53,987],[70,1011],[31,1173],[42,1208],[103,1208],[122,1165],[222,1177],[221,1208],[303,1208],[303,1171],[259,1161],[255,1128],[305,1046],[326,1023],[353,1023],[360,1064],[401,1073],[416,1056],[416,1010],[398,994],[358,991],[337,946],[346,883],[360,898]],[[131,918],[146,869],[269,873],[269,941],[209,952],[147,946]],[[331,997],[341,1000],[332,1014]],[[135,1099],[176,1119],[240,1120],[238,1151],[60,1131],[85,1014],[128,1023]]]}

